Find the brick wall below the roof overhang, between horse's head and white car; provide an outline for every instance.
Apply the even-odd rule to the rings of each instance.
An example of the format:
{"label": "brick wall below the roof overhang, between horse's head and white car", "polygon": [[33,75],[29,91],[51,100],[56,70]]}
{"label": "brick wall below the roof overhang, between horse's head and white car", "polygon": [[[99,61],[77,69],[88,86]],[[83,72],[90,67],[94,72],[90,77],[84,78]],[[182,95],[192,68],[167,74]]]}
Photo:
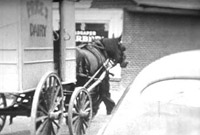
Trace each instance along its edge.
{"label": "brick wall below the roof overhang, between horse's head and white car", "polygon": [[121,85],[125,88],[154,60],[180,51],[200,49],[200,18],[125,11],[123,43],[130,61],[122,70]]}

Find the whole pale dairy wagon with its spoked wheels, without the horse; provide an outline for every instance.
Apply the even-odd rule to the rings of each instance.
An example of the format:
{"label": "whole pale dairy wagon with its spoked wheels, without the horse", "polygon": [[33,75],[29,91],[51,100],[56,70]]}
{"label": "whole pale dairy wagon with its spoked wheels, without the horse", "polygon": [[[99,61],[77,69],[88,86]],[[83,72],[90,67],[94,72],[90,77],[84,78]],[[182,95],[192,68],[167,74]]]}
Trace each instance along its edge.
{"label": "whole pale dairy wagon with its spoked wheels, without the horse", "polygon": [[6,116],[31,117],[31,135],[58,134],[62,118],[72,135],[88,128],[91,98],[74,85],[74,1],[59,5],[61,44],[54,46],[51,0],[0,1],[0,131]]}

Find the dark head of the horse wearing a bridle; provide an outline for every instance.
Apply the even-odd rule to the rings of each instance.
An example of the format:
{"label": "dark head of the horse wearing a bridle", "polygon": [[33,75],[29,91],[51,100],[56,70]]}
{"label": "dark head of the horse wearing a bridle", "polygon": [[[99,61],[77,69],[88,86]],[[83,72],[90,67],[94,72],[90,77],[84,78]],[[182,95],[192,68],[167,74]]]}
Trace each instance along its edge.
{"label": "dark head of the horse wearing a bridle", "polygon": [[101,39],[101,43],[104,45],[108,58],[113,60],[115,64],[119,63],[122,68],[125,68],[128,64],[126,62],[126,55],[124,51],[126,47],[121,44],[121,36],[119,38],[104,38]]}

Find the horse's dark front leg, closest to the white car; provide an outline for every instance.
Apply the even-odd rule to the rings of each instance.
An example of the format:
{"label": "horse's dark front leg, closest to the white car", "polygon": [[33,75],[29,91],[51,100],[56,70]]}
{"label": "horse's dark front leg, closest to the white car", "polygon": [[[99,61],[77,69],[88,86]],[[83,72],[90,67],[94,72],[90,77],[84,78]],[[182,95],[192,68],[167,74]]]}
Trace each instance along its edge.
{"label": "horse's dark front leg, closest to the white car", "polygon": [[102,83],[100,84],[101,97],[106,106],[108,115],[111,114],[111,112],[115,106],[115,102],[110,98],[111,94],[110,94],[109,79],[110,79],[109,74],[107,74],[106,77],[104,78],[104,80],[102,81]]}

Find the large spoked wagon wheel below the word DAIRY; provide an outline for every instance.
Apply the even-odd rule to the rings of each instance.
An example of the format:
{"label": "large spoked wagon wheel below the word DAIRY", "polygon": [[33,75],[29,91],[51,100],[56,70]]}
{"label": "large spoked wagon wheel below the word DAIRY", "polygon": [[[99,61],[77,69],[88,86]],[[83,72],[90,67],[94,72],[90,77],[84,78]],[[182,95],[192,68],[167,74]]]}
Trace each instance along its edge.
{"label": "large spoked wagon wheel below the word DAIRY", "polygon": [[40,80],[32,103],[31,135],[56,135],[63,118],[63,89],[55,73]]}

